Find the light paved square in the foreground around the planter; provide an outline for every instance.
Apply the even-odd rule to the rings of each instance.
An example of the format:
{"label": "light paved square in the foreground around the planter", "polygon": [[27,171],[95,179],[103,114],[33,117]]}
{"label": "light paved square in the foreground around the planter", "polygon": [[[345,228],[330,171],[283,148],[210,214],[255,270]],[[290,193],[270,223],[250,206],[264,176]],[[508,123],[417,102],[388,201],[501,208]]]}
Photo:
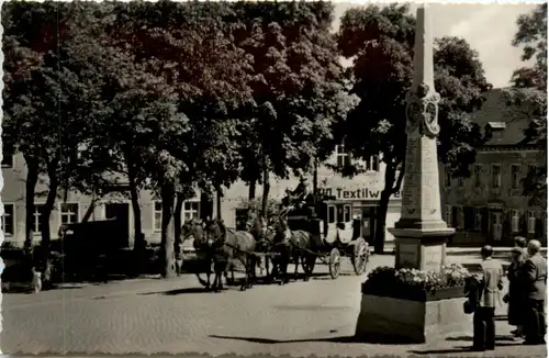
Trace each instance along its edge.
{"label": "light paved square in the foreground around the planter", "polygon": [[[374,256],[369,268],[393,260]],[[325,267],[316,271],[327,272]],[[350,265],[344,273],[337,280],[322,276],[217,294],[204,293],[193,276],[4,294],[0,346],[3,354],[474,356],[463,353],[471,345],[470,335],[440,337],[428,346],[354,342],[363,278],[351,273]],[[504,312],[502,307],[497,313]],[[485,356],[546,357],[545,347],[509,340],[511,329],[505,321],[497,322],[500,347]]]}

